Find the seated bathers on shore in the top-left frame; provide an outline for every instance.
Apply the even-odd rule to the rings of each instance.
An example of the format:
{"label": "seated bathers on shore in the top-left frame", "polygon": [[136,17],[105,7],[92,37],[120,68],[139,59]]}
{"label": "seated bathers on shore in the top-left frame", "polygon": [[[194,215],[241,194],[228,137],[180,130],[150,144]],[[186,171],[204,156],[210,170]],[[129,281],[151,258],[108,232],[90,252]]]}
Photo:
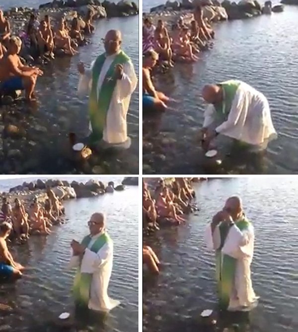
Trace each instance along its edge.
{"label": "seated bathers on shore in the top-left frame", "polygon": [[73,56],[86,43],[85,35],[93,33],[93,14],[85,19],[74,17],[71,24],[62,16],[56,28],[49,15],[39,22],[34,13],[18,36],[12,35],[10,24],[0,9],[0,95],[25,90],[27,100],[35,100],[34,88],[43,72],[37,67],[25,66],[19,53],[26,48],[36,62],[50,61],[55,53]]}

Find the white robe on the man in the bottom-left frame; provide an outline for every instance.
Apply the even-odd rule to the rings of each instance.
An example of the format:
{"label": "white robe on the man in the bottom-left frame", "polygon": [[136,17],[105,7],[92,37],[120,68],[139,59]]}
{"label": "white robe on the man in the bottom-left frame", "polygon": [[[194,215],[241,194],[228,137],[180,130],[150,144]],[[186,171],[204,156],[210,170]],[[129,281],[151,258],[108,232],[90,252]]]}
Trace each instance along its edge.
{"label": "white robe on the man in the bottom-left frame", "polygon": [[[88,308],[107,312],[119,305],[119,301],[108,297],[108,285],[113,267],[113,243],[106,243],[97,253],[90,250],[95,240],[101,235],[92,237],[82,259],[81,272],[92,273],[90,299]],[[79,256],[72,256],[69,268],[79,266]]]}

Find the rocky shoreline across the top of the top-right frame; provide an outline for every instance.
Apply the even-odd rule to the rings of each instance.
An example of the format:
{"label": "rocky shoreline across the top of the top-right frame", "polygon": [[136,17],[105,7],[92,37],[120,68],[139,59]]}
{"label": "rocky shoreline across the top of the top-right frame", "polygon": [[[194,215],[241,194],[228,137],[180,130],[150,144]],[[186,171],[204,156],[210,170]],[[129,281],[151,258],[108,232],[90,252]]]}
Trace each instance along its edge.
{"label": "rocky shoreline across the top of the top-right frame", "polygon": [[[287,3],[284,1],[297,2],[297,0],[282,0],[282,3]],[[223,2],[218,0],[182,0],[181,2],[167,1],[165,4],[152,7],[150,13],[144,13],[143,15],[150,17],[154,24],[156,24],[158,19],[173,23],[181,16],[186,20],[188,18],[190,20],[192,11],[197,3],[203,6],[204,18],[211,22],[251,18],[267,13],[266,10],[264,11],[265,6],[261,6],[257,0],[241,0],[238,3],[229,0],[224,0]],[[283,5],[277,4],[273,6],[272,11],[281,12],[283,9]],[[186,23],[188,22],[186,21]]]}

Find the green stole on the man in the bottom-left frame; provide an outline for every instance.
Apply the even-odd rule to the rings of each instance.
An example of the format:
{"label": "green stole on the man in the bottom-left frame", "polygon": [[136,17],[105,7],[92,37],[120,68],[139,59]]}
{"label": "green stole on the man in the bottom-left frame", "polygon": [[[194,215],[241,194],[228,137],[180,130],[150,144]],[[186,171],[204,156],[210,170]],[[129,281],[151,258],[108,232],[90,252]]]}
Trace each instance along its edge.
{"label": "green stole on the man in the bottom-left frame", "polygon": [[[81,245],[84,247],[88,247],[91,241],[91,236],[87,235],[84,237]],[[99,236],[92,247],[89,249],[95,253],[99,251],[107,242],[112,241],[109,235],[104,232],[101,236]],[[77,304],[81,304],[84,306],[88,306],[89,298],[90,298],[90,286],[92,282],[92,273],[82,273],[81,271],[81,262],[80,266],[77,269],[76,275],[74,277],[74,286],[73,286],[73,295],[74,300]]]}

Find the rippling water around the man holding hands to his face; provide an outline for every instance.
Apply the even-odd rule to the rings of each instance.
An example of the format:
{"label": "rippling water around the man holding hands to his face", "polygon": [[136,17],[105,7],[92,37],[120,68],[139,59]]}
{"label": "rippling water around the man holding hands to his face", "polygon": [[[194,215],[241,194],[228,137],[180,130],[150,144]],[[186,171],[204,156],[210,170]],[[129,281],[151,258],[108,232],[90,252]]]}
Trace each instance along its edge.
{"label": "rippling water around the man holding hands to his face", "polygon": [[203,232],[225,199],[235,194],[242,197],[255,227],[252,280],[260,302],[249,317],[224,317],[218,331],[227,326],[229,332],[298,331],[298,180],[214,179],[195,184],[195,190],[200,211],[185,225],[145,239],[160,259],[162,271],[155,279],[145,274],[143,280],[144,331],[198,331],[200,313],[214,308],[214,255],[204,245]]}

